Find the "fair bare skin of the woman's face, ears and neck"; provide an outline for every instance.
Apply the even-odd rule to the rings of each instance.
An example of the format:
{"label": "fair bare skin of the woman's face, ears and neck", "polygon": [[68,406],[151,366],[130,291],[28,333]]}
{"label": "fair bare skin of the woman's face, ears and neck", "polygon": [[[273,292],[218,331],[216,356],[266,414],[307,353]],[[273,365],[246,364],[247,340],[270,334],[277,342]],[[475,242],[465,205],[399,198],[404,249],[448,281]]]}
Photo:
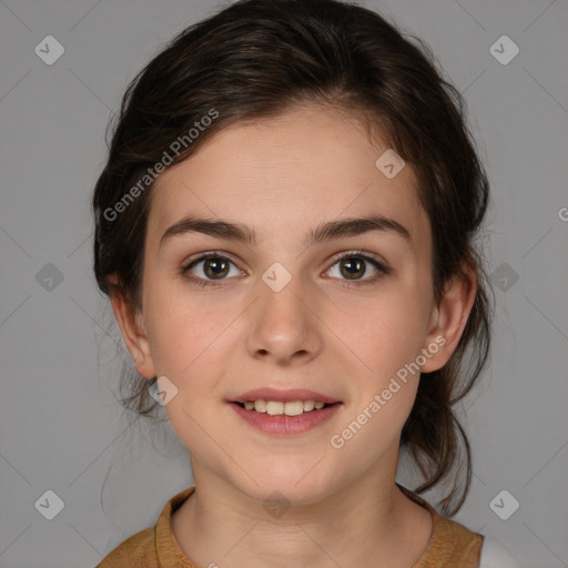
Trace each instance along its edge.
{"label": "fair bare skin of the woman's face, ears and neck", "polygon": [[[164,408],[190,450],[196,491],[173,515],[172,529],[201,567],[348,568],[373,558],[374,566],[408,568],[427,548],[430,515],[395,486],[419,375],[409,374],[343,448],[329,443],[439,336],[445,345],[420,368],[444,366],[475,298],[469,272],[435,303],[417,180],[409,164],[394,179],[375,166],[387,149],[358,121],[305,104],[221,131],[153,189],[142,310],[119,295],[112,305],[139,373],[166,376],[178,388]],[[302,244],[320,223],[371,212],[406,226],[413,244],[377,231]],[[160,247],[164,231],[186,214],[244,223],[257,244],[187,233]],[[381,275],[367,263],[349,281],[334,255],[357,250],[392,272]],[[181,273],[210,251],[234,263],[223,281],[204,272],[205,262]],[[292,276],[280,292],[262,280],[274,262]],[[213,285],[200,287],[190,275]],[[261,386],[311,388],[343,405],[326,424],[275,437],[226,402]],[[275,490],[291,505],[280,517],[263,506]]]}

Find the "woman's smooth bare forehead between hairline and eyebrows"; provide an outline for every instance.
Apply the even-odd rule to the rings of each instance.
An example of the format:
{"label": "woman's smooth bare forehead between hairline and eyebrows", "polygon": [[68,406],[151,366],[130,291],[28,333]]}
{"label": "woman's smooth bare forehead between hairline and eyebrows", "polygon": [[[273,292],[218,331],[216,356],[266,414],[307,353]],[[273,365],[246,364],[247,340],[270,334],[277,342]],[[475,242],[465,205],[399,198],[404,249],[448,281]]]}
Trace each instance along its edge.
{"label": "woman's smooth bare forehead between hairline and eyebrows", "polygon": [[387,150],[355,119],[320,105],[235,123],[156,180],[149,235],[159,240],[190,214],[239,221],[262,239],[376,213],[416,239],[428,230],[417,180],[408,164],[388,179],[376,166]]}

